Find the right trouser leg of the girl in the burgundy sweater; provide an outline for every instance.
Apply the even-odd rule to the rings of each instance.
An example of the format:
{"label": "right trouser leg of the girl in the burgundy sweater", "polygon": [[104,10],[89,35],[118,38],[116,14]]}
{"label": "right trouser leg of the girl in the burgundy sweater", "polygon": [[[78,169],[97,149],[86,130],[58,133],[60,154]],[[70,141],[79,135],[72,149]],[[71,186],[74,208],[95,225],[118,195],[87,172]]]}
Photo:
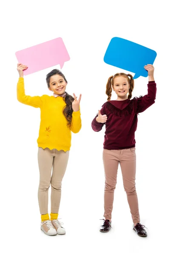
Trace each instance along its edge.
{"label": "right trouser leg of the girl in the burgundy sweater", "polygon": [[138,198],[135,187],[136,153],[135,148],[123,149],[121,152],[120,166],[122,169],[123,185],[127,194],[133,223],[140,222]]}

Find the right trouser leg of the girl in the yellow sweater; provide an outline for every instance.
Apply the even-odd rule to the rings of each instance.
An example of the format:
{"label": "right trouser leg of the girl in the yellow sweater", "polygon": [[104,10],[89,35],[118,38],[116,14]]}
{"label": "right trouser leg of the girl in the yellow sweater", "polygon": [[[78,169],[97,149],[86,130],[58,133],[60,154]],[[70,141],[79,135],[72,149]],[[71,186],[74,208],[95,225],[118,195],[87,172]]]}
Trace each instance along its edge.
{"label": "right trouser leg of the girl in the yellow sweater", "polygon": [[55,151],[51,177],[51,213],[59,212],[62,178],[64,177],[69,157],[69,151],[57,151],[57,149]]}

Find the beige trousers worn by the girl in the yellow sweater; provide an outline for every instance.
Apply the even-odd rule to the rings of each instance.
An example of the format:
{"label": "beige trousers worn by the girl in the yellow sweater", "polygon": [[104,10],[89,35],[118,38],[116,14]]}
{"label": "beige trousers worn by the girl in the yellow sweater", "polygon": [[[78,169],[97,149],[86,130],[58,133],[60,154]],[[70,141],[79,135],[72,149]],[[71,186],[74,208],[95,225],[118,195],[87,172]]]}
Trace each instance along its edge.
{"label": "beige trousers worn by the girl in the yellow sweater", "polygon": [[[51,184],[51,212],[59,212],[61,185],[68,163],[69,151],[38,148],[38,165],[40,170],[40,185],[38,202],[40,214],[48,213],[48,189]],[[51,175],[51,170],[53,172]]]}

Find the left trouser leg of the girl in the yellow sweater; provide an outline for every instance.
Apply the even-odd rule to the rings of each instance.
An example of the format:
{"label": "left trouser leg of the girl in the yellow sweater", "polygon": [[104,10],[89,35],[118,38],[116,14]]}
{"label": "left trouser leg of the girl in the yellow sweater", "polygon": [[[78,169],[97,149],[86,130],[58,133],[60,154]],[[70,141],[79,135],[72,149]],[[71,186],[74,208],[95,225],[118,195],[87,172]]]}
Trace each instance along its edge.
{"label": "left trouser leg of the girl in the yellow sweater", "polygon": [[38,148],[38,165],[40,170],[38,202],[41,215],[48,213],[48,189],[51,181],[53,158],[52,150],[49,148]]}

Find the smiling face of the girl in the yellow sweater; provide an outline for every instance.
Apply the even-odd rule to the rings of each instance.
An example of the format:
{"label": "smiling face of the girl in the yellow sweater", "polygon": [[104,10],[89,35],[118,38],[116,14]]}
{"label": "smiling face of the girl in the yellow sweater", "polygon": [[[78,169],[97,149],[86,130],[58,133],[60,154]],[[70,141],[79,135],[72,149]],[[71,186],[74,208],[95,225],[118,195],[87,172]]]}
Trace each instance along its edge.
{"label": "smiling face of the girl in the yellow sweater", "polygon": [[66,81],[60,75],[54,75],[50,78],[49,90],[53,91],[55,94],[62,95],[65,93]]}

